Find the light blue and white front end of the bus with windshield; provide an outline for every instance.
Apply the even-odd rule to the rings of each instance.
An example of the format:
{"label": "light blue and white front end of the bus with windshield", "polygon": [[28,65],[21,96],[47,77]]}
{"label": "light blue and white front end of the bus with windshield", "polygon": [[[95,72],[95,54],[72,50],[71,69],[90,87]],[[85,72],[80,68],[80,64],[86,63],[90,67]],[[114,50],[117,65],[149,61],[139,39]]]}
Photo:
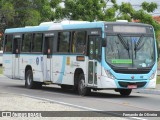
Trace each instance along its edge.
{"label": "light blue and white front end of the bus with windshield", "polygon": [[102,88],[117,88],[121,95],[132,89],[155,88],[156,40],[153,27],[136,23],[106,23],[102,47]]}

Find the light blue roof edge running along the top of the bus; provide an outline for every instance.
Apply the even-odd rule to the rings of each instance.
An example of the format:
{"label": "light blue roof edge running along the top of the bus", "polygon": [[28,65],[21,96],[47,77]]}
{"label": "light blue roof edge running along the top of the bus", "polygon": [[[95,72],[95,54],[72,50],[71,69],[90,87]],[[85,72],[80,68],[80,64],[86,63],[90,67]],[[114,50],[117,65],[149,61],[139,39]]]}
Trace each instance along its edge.
{"label": "light blue roof edge running along the top of the bus", "polygon": [[142,23],[132,22],[73,22],[73,23],[42,23],[39,26],[28,26],[22,28],[10,28],[5,30],[5,34],[8,33],[21,33],[21,32],[41,32],[41,31],[52,31],[52,30],[68,30],[68,29],[85,29],[85,28],[102,28],[105,24],[119,24],[119,25],[138,25],[138,26],[151,26]]}

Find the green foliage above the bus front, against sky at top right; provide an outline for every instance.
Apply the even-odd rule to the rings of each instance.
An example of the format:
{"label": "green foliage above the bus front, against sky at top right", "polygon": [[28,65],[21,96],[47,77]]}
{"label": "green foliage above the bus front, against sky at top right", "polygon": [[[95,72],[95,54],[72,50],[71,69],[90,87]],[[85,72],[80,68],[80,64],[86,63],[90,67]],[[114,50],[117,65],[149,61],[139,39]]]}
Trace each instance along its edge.
{"label": "green foliage above the bus front, against sky at top right", "polygon": [[156,3],[142,3],[142,9],[135,10],[130,3],[122,3],[122,5],[119,6],[119,15],[117,16],[117,19],[125,19],[131,21],[131,19],[139,20],[142,23],[151,24],[155,31],[160,30],[160,24],[158,24],[153,17],[148,14],[149,12],[153,12],[157,8]]}

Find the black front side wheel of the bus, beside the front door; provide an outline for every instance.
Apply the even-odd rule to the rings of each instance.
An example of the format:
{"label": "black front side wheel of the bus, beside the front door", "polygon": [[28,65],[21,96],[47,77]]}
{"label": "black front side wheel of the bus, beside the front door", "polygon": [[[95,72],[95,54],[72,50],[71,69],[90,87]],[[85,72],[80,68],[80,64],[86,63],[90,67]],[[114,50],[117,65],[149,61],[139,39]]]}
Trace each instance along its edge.
{"label": "black front side wheel of the bus, beside the front door", "polygon": [[78,93],[79,95],[82,95],[82,96],[89,95],[91,92],[91,89],[85,86],[84,81],[85,81],[84,74],[81,74],[79,76],[79,82],[78,82]]}

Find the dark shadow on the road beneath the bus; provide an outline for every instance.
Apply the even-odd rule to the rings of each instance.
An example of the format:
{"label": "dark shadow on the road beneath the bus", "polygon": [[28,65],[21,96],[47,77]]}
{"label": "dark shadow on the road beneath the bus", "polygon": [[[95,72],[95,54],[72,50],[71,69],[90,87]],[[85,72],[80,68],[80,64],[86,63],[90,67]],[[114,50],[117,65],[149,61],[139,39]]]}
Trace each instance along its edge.
{"label": "dark shadow on the road beneath the bus", "polygon": [[[23,85],[8,85],[7,87],[11,87],[11,88],[14,88],[14,89],[20,89],[18,91],[20,92],[40,92],[42,91],[42,93],[45,92],[45,94],[59,94],[59,95],[69,95],[70,97],[78,97],[78,92],[77,91],[73,91],[71,89],[61,89],[59,86],[43,86],[41,89],[27,89],[25,88],[25,86]],[[46,93],[47,92],[47,93]],[[81,97],[81,96],[79,96]],[[130,99],[130,98],[144,98],[145,96],[142,96],[142,95],[131,95],[130,96],[121,96],[118,92],[115,92],[114,90],[105,90],[105,92],[102,90],[101,91],[92,91],[90,93],[89,96],[85,96],[85,97],[90,97],[90,98],[124,98],[124,99]]]}

